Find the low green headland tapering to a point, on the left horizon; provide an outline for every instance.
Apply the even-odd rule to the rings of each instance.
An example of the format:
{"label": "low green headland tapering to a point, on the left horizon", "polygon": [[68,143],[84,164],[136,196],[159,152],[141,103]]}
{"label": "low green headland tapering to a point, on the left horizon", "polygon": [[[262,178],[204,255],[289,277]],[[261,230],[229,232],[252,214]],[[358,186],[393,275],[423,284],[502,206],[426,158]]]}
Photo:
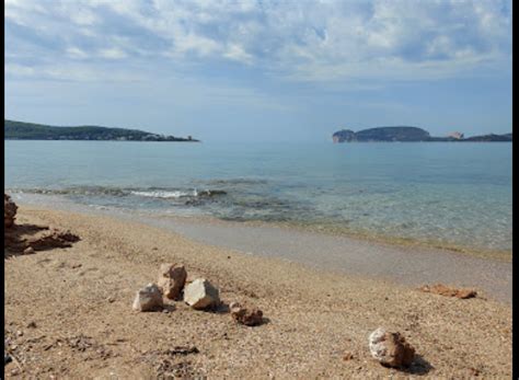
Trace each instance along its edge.
{"label": "low green headland tapering to a point, on the left horizon", "polygon": [[187,138],[157,135],[149,131],[99,126],[55,127],[43,124],[22,123],[4,119],[5,140],[116,140],[116,141],[187,141]]}

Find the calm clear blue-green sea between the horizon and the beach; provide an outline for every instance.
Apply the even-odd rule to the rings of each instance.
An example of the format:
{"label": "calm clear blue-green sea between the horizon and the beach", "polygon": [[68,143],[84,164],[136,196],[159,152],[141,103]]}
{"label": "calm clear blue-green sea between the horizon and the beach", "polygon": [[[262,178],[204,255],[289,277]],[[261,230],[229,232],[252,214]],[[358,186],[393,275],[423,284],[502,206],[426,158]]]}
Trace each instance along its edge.
{"label": "calm clear blue-green sea between the horizon and the beach", "polygon": [[511,251],[511,143],[4,142],[20,200]]}

